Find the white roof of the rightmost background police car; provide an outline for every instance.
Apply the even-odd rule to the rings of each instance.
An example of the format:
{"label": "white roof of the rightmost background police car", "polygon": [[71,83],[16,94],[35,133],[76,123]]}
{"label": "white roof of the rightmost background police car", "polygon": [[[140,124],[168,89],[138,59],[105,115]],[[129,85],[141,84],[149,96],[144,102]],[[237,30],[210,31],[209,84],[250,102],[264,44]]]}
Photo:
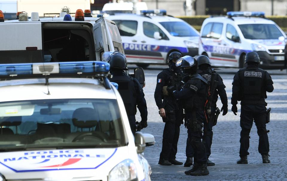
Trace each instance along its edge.
{"label": "white roof of the rightmost background police car", "polygon": [[232,17],[227,16],[210,17],[207,22],[228,22],[231,24],[275,24],[273,21],[259,17]]}

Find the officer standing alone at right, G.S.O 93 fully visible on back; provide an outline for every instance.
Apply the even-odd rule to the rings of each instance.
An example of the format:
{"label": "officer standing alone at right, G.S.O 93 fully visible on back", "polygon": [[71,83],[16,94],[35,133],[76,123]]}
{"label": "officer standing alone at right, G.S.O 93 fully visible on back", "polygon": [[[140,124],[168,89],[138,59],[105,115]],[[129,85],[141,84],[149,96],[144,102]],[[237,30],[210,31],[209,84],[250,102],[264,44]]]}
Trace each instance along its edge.
{"label": "officer standing alone at right, G.S.O 93 fully visible on back", "polygon": [[258,151],[262,155],[263,163],[270,163],[268,158],[269,131],[266,130],[266,91],[274,90],[273,81],[269,73],[261,68],[258,68],[260,62],[256,52],[249,52],[245,56],[246,68],[240,69],[233,78],[232,87],[232,112],[237,113],[237,101],[241,101],[240,114],[240,159],[237,164],[247,164],[247,155],[249,148],[249,133],[253,124],[253,120],[257,127],[259,136]]}

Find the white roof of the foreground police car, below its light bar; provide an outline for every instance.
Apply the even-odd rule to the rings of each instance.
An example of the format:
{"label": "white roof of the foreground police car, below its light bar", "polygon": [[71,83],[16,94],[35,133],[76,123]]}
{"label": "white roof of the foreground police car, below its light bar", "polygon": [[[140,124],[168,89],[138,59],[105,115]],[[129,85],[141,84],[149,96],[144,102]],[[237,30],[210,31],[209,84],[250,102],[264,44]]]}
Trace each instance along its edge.
{"label": "white roof of the foreground police car, below its light bar", "polygon": [[114,88],[106,89],[97,79],[50,78],[0,81],[0,102],[39,99],[116,99]]}

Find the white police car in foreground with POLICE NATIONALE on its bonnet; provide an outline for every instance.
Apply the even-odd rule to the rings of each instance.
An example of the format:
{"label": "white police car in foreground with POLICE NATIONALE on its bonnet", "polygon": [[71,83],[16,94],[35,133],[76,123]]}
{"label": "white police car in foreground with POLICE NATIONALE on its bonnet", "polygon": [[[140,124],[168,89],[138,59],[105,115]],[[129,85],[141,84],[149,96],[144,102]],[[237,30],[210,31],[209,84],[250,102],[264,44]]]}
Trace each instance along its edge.
{"label": "white police car in foreground with POLICE NATIONALE on its bonnet", "polygon": [[[106,62],[0,64],[0,180],[150,180]],[[4,96],[3,96],[4,95]],[[145,140],[145,141],[144,141]]]}

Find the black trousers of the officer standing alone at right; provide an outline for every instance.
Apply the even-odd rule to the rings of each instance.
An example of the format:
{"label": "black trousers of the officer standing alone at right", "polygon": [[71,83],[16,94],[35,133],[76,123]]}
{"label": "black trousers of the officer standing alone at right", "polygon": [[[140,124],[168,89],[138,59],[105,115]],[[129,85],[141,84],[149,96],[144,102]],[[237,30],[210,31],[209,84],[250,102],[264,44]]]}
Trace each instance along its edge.
{"label": "black trousers of the officer standing alone at right", "polygon": [[266,107],[265,105],[241,105],[240,114],[240,150],[239,156],[247,156],[249,148],[249,133],[253,124],[257,127],[259,136],[258,151],[260,154],[268,154],[269,141],[266,131]]}

